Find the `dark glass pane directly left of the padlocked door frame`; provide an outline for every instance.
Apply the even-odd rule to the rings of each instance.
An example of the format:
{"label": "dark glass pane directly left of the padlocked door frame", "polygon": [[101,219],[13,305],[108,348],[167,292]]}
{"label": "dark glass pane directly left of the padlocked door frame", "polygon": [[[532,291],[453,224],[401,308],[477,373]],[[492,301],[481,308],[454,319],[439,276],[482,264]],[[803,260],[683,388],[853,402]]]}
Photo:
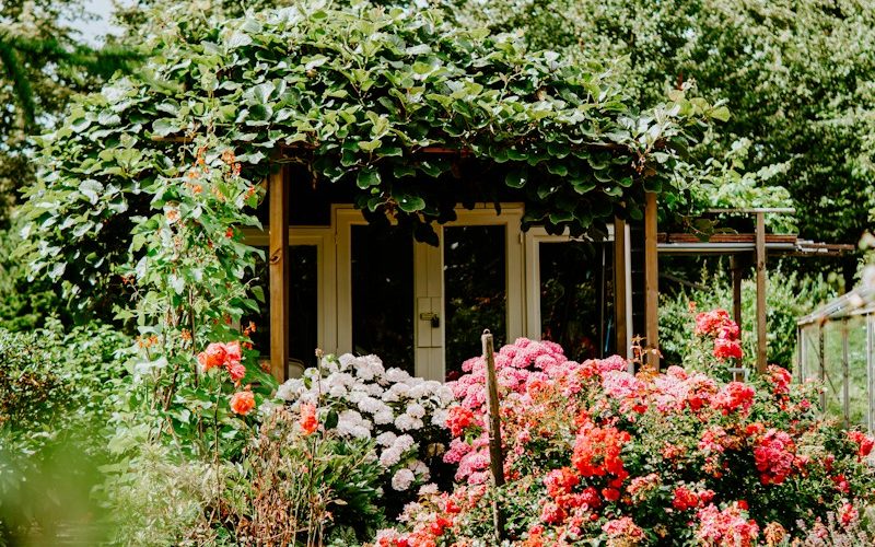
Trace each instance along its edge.
{"label": "dark glass pane directly left of the padlocked door frame", "polygon": [[397,226],[352,228],[352,350],[413,372],[413,238]]}

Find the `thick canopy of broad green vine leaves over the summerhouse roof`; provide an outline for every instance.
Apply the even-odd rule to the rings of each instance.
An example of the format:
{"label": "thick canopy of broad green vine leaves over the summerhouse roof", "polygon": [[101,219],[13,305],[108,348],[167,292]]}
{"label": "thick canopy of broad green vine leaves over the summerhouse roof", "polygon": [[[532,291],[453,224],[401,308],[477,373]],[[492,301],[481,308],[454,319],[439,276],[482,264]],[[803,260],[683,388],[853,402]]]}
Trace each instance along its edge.
{"label": "thick canopy of broad green vine leaves over the summerhouse roof", "polygon": [[641,110],[603,67],[431,10],[310,3],[214,30],[180,21],[144,54],[40,139],[20,256],[73,293],[137,259],[132,219],[205,135],[252,181],[303,163],[316,184],[347,184],[359,207],[422,238],[453,216],[447,182],[469,172],[524,201],[526,224],[583,234],[640,218],[644,189],[670,191],[680,151],[728,116],[689,90]]}

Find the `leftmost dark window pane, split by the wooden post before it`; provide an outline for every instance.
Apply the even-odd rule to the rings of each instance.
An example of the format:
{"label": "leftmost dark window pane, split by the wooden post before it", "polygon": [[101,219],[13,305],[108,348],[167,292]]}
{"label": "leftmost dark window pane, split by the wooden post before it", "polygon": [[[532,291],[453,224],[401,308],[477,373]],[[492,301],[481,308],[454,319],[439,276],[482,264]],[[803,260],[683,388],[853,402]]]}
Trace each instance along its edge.
{"label": "leftmost dark window pane, split by the wooden post before it", "polygon": [[[304,363],[316,364],[315,350],[318,345],[318,247],[316,245],[292,245],[289,252],[291,282],[289,302],[289,357]],[[255,283],[265,291],[266,302],[258,315],[245,316],[242,327],[252,321],[256,330],[253,344],[262,359],[270,357],[270,283],[266,260],[258,260]]]}

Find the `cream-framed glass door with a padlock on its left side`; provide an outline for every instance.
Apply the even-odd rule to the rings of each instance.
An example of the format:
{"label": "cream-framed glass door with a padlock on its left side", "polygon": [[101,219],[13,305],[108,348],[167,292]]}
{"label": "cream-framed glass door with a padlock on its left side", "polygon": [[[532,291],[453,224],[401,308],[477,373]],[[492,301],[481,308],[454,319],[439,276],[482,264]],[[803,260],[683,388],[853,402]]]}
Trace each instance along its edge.
{"label": "cream-framed glass door with a padlock on its left side", "polygon": [[523,335],[522,208],[459,211],[436,226],[439,246],[417,244],[417,374],[453,380],[482,351],[489,329],[495,349]]}

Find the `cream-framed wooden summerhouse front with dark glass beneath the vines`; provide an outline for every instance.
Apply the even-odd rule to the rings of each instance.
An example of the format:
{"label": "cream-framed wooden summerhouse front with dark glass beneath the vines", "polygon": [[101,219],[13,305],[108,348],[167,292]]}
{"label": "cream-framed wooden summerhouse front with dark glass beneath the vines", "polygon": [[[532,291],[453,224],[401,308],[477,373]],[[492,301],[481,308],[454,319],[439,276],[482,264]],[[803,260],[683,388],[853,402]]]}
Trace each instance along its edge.
{"label": "cream-framed wooden summerhouse front with dark glass beneath the vines", "polygon": [[499,344],[547,337],[578,359],[626,354],[639,334],[656,344],[653,194],[643,223],[618,219],[602,242],[523,231],[524,206],[502,201],[459,205],[433,245],[386,219],[369,222],[291,163],[267,184],[266,230],[246,241],[267,251],[268,306],[254,319],[277,377],[320,348],[443,380],[478,353],[483,328]]}

